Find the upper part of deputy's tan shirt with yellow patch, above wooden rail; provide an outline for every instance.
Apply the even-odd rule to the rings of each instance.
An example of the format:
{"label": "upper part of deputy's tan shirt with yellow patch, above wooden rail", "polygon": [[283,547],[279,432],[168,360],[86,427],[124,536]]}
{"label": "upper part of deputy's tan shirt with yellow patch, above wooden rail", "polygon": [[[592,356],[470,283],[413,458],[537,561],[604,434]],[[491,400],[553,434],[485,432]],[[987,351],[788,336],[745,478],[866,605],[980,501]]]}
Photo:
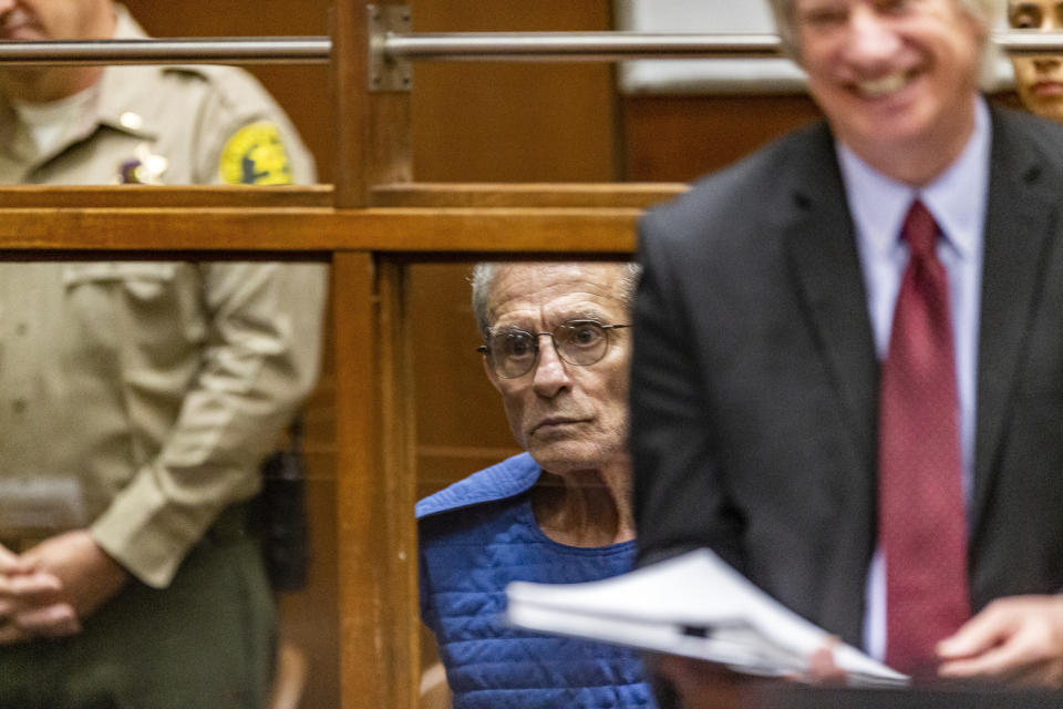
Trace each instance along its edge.
{"label": "upper part of deputy's tan shirt with yellow patch, above wooden rail", "polygon": [[[120,7],[115,37],[146,35]],[[123,166],[131,163],[145,167],[140,182],[168,185],[310,184],[316,178],[295,127],[242,70],[107,66],[90,91],[87,109],[44,153],[0,96],[0,184],[109,184],[122,182]],[[152,166],[157,161],[151,157],[164,158],[165,169]],[[231,178],[234,173],[239,178]]]}

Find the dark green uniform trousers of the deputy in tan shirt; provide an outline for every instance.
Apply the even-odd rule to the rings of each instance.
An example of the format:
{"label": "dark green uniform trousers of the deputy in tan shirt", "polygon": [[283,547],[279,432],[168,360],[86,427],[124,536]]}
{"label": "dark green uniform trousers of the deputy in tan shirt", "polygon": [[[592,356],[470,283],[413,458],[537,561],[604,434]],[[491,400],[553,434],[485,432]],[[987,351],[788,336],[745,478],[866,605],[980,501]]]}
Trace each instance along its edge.
{"label": "dark green uniform trousers of the deputy in tan shirt", "polygon": [[81,634],[0,646],[0,708],[262,709],[276,615],[258,542],[218,528],[165,589],[130,583]]}

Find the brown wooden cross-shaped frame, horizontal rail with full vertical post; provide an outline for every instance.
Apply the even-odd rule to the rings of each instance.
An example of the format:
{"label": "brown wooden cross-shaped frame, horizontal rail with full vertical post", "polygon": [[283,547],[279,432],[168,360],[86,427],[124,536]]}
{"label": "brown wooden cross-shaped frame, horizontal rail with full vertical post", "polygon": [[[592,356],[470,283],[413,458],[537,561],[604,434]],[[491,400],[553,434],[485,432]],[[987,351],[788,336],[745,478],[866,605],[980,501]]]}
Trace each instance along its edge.
{"label": "brown wooden cross-shaped frame, horizontal rail with full vertical post", "polygon": [[[416,707],[412,335],[405,268],[483,255],[621,257],[679,185],[412,181],[410,96],[367,89],[367,4],[336,0],[334,186],[0,189],[8,259],[331,264],[342,706]],[[378,4],[389,4],[378,2]]]}

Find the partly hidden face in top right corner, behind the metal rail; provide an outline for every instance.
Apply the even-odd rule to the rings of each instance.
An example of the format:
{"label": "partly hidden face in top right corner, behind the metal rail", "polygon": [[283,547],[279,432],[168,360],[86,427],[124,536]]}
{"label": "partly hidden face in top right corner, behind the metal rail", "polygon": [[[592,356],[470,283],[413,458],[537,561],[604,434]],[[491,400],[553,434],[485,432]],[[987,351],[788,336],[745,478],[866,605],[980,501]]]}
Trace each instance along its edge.
{"label": "partly hidden face in top right corner, behind the metal rail", "polygon": [[[1009,0],[1008,24],[1016,30],[1063,31],[1063,0]],[[1015,56],[1015,89],[1028,109],[1063,122],[1063,58]]]}

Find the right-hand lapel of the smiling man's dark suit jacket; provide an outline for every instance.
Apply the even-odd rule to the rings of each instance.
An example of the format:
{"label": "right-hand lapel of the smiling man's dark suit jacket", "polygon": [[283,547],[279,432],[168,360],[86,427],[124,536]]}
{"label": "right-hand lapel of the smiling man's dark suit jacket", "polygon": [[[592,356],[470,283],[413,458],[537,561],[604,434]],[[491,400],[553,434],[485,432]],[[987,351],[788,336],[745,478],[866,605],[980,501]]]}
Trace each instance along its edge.
{"label": "right-hand lapel of the smiling man's dark suit jacket", "polygon": [[985,215],[978,361],[978,424],[972,528],[978,528],[998,469],[1004,423],[1013,405],[1023,336],[1043,287],[1043,259],[1056,222],[1059,183],[1014,116],[993,113]]}

